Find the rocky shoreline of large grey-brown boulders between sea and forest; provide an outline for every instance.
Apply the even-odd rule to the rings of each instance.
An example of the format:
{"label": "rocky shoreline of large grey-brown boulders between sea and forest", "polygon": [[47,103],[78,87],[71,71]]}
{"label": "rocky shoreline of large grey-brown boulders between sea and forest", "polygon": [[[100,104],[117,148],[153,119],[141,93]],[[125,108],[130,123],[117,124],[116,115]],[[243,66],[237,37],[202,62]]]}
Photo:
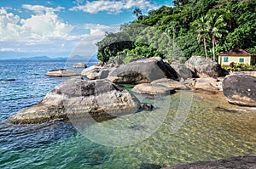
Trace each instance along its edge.
{"label": "rocky shoreline of large grey-brown boulders between sea and forest", "polygon": [[[46,75],[79,76],[80,73],[62,69],[49,70]],[[131,89],[134,93],[166,95],[176,90],[192,90],[224,95],[230,104],[256,106],[256,77],[222,76],[223,70],[218,63],[200,56],[191,57],[184,65],[175,61],[168,65],[159,57],[118,67],[93,65],[84,69],[81,75],[90,81],[71,78],[50,91],[40,103],[10,116],[8,121],[38,123],[88,114],[104,120],[129,111],[137,112],[140,101],[119,87],[119,83],[136,85]],[[114,113],[108,115],[108,112]]]}

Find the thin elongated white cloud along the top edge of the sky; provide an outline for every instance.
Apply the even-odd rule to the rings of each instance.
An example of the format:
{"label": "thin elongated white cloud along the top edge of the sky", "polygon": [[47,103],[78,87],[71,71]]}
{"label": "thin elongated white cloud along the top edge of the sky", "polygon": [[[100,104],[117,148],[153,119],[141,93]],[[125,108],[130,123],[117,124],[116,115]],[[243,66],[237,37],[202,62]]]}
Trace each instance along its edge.
{"label": "thin elongated white cloud along the top edge of the sky", "polygon": [[81,10],[86,13],[96,14],[98,12],[107,11],[109,14],[119,14],[123,9],[129,8],[158,8],[158,6],[151,4],[147,0],[122,0],[122,1],[109,1],[97,0],[93,2],[87,1],[84,5],[78,5],[69,8],[71,11]]}

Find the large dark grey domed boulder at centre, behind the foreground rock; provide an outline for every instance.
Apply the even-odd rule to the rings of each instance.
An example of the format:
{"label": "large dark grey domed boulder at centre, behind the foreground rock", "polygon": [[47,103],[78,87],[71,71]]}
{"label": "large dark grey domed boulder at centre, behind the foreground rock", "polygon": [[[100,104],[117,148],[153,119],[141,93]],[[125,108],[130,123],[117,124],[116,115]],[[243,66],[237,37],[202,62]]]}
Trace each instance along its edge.
{"label": "large dark grey domed boulder at centre, behind the foreground rock", "polygon": [[129,84],[153,82],[165,77],[177,79],[177,73],[160,58],[140,59],[121,65],[108,75],[111,82]]}

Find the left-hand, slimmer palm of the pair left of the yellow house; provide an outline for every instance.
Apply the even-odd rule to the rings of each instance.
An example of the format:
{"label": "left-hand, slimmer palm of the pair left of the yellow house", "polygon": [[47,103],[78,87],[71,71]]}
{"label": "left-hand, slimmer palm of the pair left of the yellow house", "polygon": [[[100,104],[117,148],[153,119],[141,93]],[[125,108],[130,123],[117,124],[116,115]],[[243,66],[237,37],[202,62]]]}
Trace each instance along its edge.
{"label": "left-hand, slimmer palm of the pair left of the yellow house", "polygon": [[205,54],[206,54],[206,57],[208,58],[207,39],[210,39],[210,35],[209,35],[209,30],[208,30],[208,25],[207,25],[206,19],[207,19],[206,16],[201,16],[201,18],[195,20],[192,23],[192,26],[195,28],[195,31],[197,32],[197,41],[201,42],[201,40],[203,40]]}

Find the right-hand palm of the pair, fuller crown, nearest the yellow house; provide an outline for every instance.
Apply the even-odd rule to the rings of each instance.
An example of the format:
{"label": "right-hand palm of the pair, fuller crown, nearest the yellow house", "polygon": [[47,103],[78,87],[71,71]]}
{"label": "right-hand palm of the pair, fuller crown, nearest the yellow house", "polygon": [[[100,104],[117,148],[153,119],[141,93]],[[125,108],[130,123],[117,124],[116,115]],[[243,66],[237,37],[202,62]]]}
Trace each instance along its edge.
{"label": "right-hand palm of the pair, fuller crown, nearest the yellow house", "polygon": [[222,15],[207,14],[207,29],[212,38],[212,54],[213,60],[215,60],[215,46],[217,45],[217,38],[222,37],[222,33],[228,32],[226,30],[227,23],[224,21]]}

